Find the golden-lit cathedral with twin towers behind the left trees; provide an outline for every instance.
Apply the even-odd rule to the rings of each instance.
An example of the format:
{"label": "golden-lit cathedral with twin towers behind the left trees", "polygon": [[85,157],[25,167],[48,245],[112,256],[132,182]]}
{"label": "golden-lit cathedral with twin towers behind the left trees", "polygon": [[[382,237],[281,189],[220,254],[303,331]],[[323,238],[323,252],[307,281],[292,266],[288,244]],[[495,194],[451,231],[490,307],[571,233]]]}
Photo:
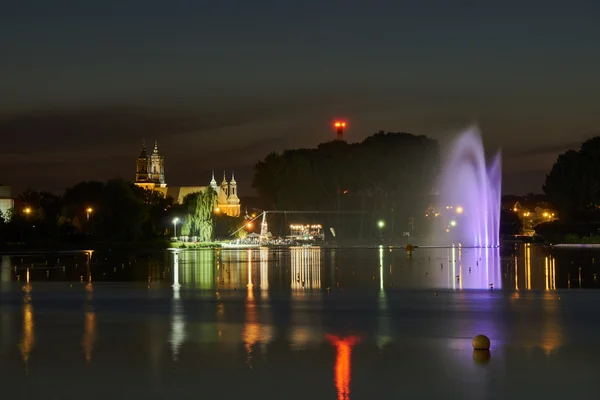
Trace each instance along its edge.
{"label": "golden-lit cathedral with twin towers behind the left trees", "polygon": [[225,171],[223,181],[217,184],[213,172],[208,186],[167,186],[165,181],[165,159],[158,152],[158,142],[154,142],[152,153],[148,154],[146,143],[142,144],[142,152],[136,160],[135,184],[145,189],[171,196],[176,203],[181,204],[185,196],[210,188],[217,193],[216,211],[230,217],[239,217],[240,199],[237,193],[237,182],[233,172],[231,181],[227,182]]}

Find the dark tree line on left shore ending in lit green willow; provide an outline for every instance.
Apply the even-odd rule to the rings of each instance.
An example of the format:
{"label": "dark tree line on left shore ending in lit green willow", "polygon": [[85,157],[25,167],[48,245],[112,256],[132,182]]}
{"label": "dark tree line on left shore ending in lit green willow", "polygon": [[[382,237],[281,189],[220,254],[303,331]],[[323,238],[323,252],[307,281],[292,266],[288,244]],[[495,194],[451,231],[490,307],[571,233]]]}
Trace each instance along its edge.
{"label": "dark tree line on left shore ending in lit green willow", "polygon": [[211,241],[227,235],[237,219],[213,215],[216,193],[210,188],[186,196],[182,204],[172,197],[144,189],[123,179],[80,182],[62,195],[26,190],[15,206],[1,216],[0,245],[36,247],[168,246],[175,218],[178,236]]}

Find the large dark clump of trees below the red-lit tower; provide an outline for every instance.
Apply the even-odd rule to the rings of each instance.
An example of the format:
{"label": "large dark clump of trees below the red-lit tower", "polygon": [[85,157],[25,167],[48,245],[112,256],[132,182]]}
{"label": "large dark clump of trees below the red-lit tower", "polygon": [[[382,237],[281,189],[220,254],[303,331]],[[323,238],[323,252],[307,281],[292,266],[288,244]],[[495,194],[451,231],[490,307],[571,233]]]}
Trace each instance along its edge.
{"label": "large dark clump of trees below the red-lit tower", "polygon": [[[401,235],[423,226],[439,167],[434,139],[380,131],[360,143],[336,140],[271,153],[256,164],[253,187],[269,209],[321,212],[313,222],[333,227],[338,236],[379,235],[379,220],[388,234]],[[274,229],[285,231],[293,218]]]}

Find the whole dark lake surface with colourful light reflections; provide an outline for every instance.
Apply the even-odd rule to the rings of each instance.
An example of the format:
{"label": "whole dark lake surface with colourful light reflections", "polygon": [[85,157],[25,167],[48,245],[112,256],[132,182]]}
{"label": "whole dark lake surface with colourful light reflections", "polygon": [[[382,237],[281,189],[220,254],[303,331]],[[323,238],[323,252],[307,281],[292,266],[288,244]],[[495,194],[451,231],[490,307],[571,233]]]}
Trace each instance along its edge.
{"label": "whole dark lake surface with colourful light reflections", "polygon": [[533,245],[3,255],[0,382],[35,399],[595,399],[598,262]]}

